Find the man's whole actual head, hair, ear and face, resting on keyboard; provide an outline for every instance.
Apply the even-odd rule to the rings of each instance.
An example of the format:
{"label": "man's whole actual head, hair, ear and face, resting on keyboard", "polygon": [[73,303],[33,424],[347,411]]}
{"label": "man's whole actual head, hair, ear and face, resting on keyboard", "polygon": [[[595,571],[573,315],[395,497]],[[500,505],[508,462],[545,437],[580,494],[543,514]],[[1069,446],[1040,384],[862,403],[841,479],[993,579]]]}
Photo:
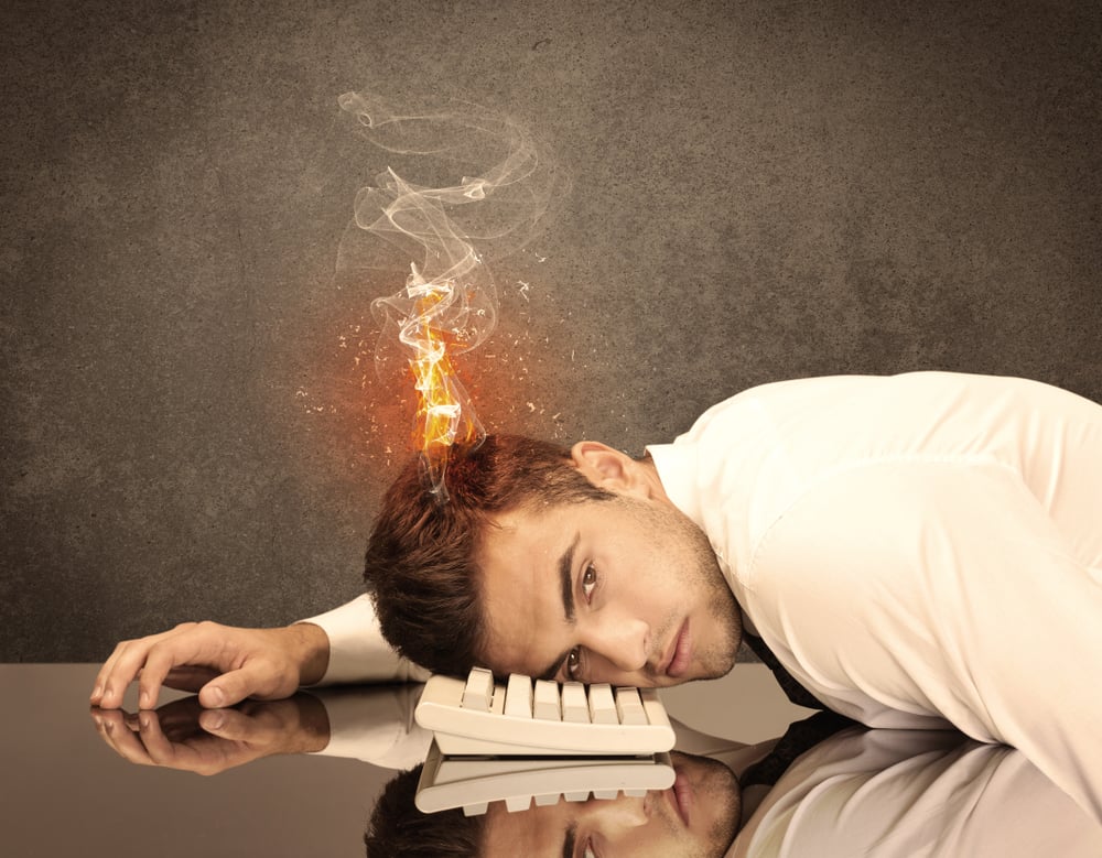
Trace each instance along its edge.
{"label": "man's whole actual head, hair, ear and face, resting on keyboard", "polygon": [[383,634],[430,670],[671,685],[734,664],[737,605],[649,461],[490,436],[437,506],[410,463],[365,577]]}

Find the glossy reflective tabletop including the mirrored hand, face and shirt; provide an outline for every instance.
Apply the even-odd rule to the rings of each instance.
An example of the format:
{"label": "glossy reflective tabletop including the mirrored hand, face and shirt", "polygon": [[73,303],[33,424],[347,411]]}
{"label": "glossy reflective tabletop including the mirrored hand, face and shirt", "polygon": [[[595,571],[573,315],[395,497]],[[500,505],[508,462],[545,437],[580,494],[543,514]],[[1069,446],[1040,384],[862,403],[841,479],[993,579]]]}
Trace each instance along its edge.
{"label": "glossy reflective tabletop including the mirrored hand, face and shirt", "polygon": [[[657,781],[609,790],[612,769],[601,786],[570,780],[586,759],[441,759],[414,723],[415,684],[227,710],[169,694],[138,713],[133,688],[121,710],[89,708],[97,669],[0,665],[4,855],[361,856],[374,825],[469,836],[491,856],[1102,856],[1102,826],[1019,752],[949,730],[868,730],[806,710],[747,741],[676,724],[674,751],[655,760],[665,769],[644,779]],[[538,776],[525,773],[523,796],[468,803],[487,776],[515,784],[526,767]],[[429,788],[437,813],[418,810]]]}

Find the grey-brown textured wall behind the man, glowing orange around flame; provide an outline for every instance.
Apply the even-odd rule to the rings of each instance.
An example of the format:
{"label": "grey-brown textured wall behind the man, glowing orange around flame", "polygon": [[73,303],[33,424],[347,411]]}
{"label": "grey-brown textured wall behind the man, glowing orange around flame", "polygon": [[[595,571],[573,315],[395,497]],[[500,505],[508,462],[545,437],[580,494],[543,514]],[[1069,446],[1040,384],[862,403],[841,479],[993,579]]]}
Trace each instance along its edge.
{"label": "grey-brown textured wall behind the man, glowing orange around flame", "polygon": [[358,591],[410,411],[354,360],[401,284],[333,276],[387,165],[347,89],[571,175],[462,365],[491,428],[635,453],[919,368],[1102,400],[1096,3],[8,2],[0,40],[4,661]]}

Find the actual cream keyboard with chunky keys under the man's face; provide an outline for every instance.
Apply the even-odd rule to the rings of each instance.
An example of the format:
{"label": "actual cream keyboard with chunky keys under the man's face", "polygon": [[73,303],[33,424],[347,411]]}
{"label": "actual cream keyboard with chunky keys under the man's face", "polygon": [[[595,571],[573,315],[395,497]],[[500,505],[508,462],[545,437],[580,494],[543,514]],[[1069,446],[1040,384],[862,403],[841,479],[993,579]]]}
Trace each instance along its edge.
{"label": "actual cream keyboard with chunky keys under the man's face", "polygon": [[668,751],[674,741],[652,688],[560,687],[518,675],[506,686],[482,667],[466,682],[430,676],[415,717],[446,754],[631,756]]}

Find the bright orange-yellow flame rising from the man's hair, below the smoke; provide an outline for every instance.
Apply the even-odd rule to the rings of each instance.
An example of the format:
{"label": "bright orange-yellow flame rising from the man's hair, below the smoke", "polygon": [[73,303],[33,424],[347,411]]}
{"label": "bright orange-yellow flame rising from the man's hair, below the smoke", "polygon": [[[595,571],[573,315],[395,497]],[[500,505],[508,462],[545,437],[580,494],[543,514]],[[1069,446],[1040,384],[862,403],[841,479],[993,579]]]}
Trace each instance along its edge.
{"label": "bright orange-yellow flame rising from the man's hair, below the smoke", "polygon": [[441,502],[447,500],[444,470],[455,444],[474,444],[484,435],[482,424],[452,365],[462,330],[443,326],[456,300],[454,281],[418,282],[417,270],[410,278],[407,294],[412,312],[402,326],[402,341],[412,350],[409,366],[418,392],[413,422],[413,444],[421,450],[429,490]]}

